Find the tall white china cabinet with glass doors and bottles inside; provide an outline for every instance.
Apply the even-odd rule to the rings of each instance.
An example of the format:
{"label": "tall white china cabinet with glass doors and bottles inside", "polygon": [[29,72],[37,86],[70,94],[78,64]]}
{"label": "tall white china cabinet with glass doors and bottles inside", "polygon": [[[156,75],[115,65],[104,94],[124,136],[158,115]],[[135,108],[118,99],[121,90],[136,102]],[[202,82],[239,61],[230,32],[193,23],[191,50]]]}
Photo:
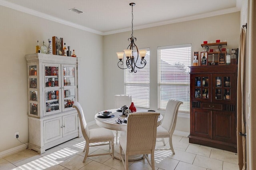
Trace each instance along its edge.
{"label": "tall white china cabinet with glass doors and bottles inside", "polygon": [[29,149],[46,149],[80,137],[78,114],[78,58],[33,53],[28,67]]}

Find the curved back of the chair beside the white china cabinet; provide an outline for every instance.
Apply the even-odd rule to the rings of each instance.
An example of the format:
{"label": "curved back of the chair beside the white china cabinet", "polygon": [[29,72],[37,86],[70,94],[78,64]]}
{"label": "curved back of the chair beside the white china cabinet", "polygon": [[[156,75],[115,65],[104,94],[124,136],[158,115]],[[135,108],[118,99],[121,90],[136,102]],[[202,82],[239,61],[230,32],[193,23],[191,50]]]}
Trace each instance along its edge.
{"label": "curved back of the chair beside the white china cabinet", "polygon": [[80,125],[81,125],[81,130],[82,130],[82,134],[84,136],[84,139],[86,140],[86,142],[89,142],[89,128],[86,124],[85,118],[84,118],[84,112],[83,109],[80,105],[80,103],[78,103],[77,101],[75,101],[73,103],[74,108],[76,108],[77,112],[78,112],[78,117],[79,117],[79,121],[80,121]]}

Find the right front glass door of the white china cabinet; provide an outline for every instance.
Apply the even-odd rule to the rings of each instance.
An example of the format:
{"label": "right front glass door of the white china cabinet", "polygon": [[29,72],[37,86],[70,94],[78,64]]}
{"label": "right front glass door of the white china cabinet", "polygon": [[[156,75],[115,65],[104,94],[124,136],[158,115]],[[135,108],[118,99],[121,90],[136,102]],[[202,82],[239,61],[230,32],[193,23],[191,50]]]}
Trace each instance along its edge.
{"label": "right front glass door of the white china cabinet", "polygon": [[76,101],[76,65],[63,65],[63,109],[74,109],[72,105]]}

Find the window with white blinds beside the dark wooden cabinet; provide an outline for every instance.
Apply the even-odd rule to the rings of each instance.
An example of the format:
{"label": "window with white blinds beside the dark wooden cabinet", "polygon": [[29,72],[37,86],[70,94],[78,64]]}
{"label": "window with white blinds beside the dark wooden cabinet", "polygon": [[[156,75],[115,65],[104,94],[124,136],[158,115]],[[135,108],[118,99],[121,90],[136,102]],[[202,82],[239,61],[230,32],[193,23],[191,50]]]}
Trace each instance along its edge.
{"label": "window with white blinds beside the dark wooden cabinet", "polygon": [[190,111],[191,44],[158,47],[158,109],[169,99],[183,102],[180,112]]}

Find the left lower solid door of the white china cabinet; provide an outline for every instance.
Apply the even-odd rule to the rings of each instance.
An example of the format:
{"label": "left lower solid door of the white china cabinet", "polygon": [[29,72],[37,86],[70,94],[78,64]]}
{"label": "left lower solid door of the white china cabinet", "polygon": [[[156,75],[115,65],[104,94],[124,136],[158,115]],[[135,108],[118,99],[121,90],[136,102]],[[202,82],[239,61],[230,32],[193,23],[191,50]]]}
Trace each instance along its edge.
{"label": "left lower solid door of the white china cabinet", "polygon": [[62,138],[62,117],[44,121],[44,144]]}

